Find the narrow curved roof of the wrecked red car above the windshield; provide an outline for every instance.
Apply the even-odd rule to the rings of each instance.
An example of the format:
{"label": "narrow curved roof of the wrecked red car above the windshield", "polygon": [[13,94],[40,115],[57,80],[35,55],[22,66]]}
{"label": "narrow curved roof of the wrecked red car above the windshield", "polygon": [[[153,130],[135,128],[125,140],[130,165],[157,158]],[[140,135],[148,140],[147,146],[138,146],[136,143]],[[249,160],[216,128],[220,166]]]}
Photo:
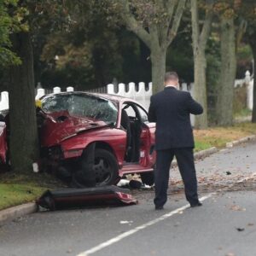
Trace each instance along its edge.
{"label": "narrow curved roof of the wrecked red car above the windshield", "polygon": [[[132,100],[131,98],[126,98],[124,96],[117,96],[107,93],[96,93],[96,92],[84,92],[84,91],[65,91],[65,92],[59,92],[59,93],[51,93],[45,96],[42,96],[40,99],[45,99],[48,96],[54,96],[54,95],[91,95],[91,96],[97,96],[100,98],[104,98],[106,100],[109,100],[111,102],[136,102]],[[136,102],[138,104],[138,102]]]}

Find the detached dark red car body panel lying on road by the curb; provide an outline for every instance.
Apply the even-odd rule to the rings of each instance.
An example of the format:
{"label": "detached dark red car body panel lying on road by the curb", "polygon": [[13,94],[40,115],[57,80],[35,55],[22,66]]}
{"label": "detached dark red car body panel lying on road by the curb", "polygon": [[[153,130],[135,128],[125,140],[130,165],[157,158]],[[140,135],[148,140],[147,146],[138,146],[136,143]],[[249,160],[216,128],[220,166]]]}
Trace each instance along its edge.
{"label": "detached dark red car body panel lying on road by the curb", "polygon": [[130,189],[105,186],[90,189],[47,190],[37,201],[38,206],[51,211],[78,207],[108,207],[135,205]]}

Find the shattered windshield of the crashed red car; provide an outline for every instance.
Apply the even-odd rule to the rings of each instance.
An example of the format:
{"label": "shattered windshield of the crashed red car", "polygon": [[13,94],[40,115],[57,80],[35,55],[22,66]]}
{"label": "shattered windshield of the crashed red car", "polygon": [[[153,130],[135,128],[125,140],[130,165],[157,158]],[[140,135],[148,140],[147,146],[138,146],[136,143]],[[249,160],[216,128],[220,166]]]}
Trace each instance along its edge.
{"label": "shattered windshield of the crashed red car", "polygon": [[90,95],[54,95],[43,100],[42,108],[47,113],[68,111],[71,115],[116,123],[118,109],[108,100]]}

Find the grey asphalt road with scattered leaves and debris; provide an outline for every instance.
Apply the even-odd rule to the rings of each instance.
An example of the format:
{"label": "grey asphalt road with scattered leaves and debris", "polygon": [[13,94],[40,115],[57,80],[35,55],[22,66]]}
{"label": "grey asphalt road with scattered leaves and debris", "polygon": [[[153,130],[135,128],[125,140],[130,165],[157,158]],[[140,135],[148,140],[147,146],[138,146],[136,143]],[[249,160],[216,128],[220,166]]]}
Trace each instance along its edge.
{"label": "grey asphalt road with scattered leaves and debris", "polygon": [[149,190],[137,206],[34,213],[0,227],[0,256],[254,256],[255,155],[248,143],[198,161],[203,207],[187,206],[174,169],[164,211]]}

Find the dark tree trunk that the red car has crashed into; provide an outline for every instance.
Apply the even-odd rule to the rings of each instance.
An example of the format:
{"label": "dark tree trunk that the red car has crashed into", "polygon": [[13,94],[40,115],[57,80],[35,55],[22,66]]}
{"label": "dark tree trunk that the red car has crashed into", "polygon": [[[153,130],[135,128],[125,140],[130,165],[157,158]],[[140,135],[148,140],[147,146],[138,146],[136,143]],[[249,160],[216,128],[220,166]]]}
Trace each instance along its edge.
{"label": "dark tree trunk that the red car has crashed into", "polygon": [[32,172],[38,160],[32,43],[29,33],[14,35],[13,46],[22,64],[12,67],[9,88],[10,161],[15,172]]}

